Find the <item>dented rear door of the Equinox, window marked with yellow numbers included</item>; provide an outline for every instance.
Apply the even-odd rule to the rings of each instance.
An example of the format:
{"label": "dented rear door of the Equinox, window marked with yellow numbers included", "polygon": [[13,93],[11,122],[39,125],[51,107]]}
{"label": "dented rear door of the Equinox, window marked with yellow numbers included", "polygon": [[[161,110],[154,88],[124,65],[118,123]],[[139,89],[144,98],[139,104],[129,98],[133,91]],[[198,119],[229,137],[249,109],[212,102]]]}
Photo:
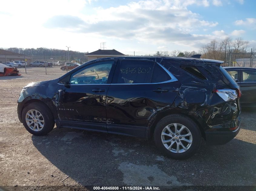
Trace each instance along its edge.
{"label": "dented rear door of the Equinox, window marked with yellow numbers included", "polygon": [[120,59],[107,94],[108,132],[145,137],[149,120],[172,105],[179,84],[156,62]]}

